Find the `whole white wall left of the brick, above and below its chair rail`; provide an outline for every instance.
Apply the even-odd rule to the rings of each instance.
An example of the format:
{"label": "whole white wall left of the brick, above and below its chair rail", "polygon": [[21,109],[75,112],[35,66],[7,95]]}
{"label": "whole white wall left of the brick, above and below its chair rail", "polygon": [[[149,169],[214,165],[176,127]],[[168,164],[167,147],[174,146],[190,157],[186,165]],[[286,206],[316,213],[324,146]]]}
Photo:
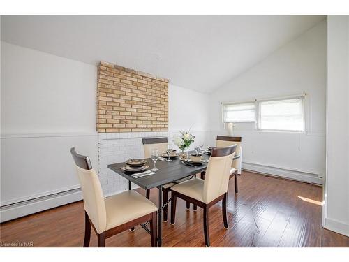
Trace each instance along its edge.
{"label": "whole white wall left of the brick, above and below its chair rail", "polygon": [[27,212],[13,203],[80,198],[69,150],[96,166],[97,144],[96,66],[1,42],[1,221]]}

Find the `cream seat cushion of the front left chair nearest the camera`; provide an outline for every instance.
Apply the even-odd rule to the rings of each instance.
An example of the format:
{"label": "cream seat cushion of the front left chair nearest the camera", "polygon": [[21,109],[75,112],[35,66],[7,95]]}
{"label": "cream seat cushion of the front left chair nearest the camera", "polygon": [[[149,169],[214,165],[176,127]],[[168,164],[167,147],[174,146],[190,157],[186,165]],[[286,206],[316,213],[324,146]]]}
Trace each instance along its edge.
{"label": "cream seat cushion of the front left chair nearest the camera", "polygon": [[158,211],[156,205],[136,191],[128,190],[105,198],[106,230]]}

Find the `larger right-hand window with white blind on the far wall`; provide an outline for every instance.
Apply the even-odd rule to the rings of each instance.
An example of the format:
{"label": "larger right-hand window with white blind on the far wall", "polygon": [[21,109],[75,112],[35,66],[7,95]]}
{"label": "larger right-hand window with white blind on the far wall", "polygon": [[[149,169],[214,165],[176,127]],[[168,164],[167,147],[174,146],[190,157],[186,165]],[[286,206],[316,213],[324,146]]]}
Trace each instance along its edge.
{"label": "larger right-hand window with white blind on the far wall", "polygon": [[258,101],[258,129],[304,131],[304,96]]}

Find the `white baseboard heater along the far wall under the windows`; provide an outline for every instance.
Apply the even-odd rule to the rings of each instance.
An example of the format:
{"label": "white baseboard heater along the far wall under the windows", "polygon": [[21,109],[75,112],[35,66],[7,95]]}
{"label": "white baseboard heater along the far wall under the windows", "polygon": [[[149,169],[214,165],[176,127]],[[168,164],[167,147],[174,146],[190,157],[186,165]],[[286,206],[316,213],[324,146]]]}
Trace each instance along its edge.
{"label": "white baseboard heater along the far wall under the windows", "polygon": [[260,163],[246,162],[242,162],[242,169],[267,175],[276,175],[278,177],[285,177],[291,180],[297,180],[311,184],[323,184],[322,178],[318,177],[317,174],[306,173],[299,170],[289,170],[285,168],[276,168],[274,166],[266,166]]}

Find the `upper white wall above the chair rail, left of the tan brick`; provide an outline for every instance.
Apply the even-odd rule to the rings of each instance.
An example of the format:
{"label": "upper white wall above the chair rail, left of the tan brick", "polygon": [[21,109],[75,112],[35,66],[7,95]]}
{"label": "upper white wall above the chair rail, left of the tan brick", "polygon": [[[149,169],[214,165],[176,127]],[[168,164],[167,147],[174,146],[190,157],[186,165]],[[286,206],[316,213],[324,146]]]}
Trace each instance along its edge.
{"label": "upper white wall above the chair rail, left of the tan brick", "polygon": [[2,43],[1,133],[96,131],[96,66]]}

